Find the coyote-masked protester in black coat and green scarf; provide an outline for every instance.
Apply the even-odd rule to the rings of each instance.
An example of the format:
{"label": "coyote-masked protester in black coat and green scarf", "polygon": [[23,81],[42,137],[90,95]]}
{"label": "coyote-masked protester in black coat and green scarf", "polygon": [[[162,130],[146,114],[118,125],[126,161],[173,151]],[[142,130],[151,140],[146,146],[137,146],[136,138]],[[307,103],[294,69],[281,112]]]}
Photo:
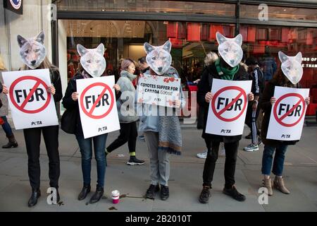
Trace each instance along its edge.
{"label": "coyote-masked protester in black coat and green scarf", "polygon": [[[218,52],[220,58],[204,71],[197,93],[197,102],[204,103],[204,131],[202,137],[205,139],[208,148],[203,173],[203,189],[199,196],[199,202],[201,203],[208,203],[211,197],[211,182],[213,181],[213,172],[218,159],[220,142],[225,143],[225,187],[223,193],[235,198],[237,201],[245,200],[245,196],[240,194],[235,188],[237,149],[242,136],[220,136],[206,133],[209,102],[213,98],[213,93],[211,93],[213,78],[228,81],[248,80],[247,71],[239,65],[243,55],[241,48],[242,35],[237,35],[237,37],[230,39],[217,32],[216,37],[219,43]],[[247,97],[249,101],[254,100],[253,93],[249,93]]]}

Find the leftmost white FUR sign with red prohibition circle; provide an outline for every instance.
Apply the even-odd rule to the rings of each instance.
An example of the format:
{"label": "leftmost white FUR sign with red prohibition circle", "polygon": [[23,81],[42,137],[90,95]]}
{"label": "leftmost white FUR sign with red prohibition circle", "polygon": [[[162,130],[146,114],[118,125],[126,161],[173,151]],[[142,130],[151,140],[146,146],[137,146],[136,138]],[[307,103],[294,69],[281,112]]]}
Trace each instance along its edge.
{"label": "leftmost white FUR sign with red prohibition circle", "polygon": [[49,69],[2,73],[15,129],[58,125]]}

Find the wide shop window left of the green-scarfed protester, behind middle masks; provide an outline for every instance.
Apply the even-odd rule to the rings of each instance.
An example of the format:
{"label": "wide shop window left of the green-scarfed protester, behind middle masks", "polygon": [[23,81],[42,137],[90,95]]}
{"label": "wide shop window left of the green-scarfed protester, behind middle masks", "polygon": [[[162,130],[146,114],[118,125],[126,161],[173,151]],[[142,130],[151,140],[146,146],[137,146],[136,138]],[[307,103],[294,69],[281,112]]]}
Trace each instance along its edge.
{"label": "wide shop window left of the green-scarfed protester, behind middle masks", "polygon": [[[95,48],[104,43],[106,71],[104,76],[118,79],[120,59],[135,61],[145,56],[144,42],[161,45],[172,42],[172,66],[178,70],[182,82],[200,78],[206,53],[216,52],[216,32],[234,37],[235,25],[142,20],[59,20],[60,68],[67,67],[68,79],[80,71],[80,57],[76,45]],[[63,54],[65,53],[65,54]],[[67,62],[67,64],[66,64]],[[78,70],[79,69],[79,70]]]}

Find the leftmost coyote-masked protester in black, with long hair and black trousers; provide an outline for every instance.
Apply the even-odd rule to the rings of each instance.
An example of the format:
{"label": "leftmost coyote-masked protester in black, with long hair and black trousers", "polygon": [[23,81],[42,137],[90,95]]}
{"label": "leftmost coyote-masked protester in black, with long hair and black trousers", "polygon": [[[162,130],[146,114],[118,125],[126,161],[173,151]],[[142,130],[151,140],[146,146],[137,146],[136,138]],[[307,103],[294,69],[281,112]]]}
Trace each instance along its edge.
{"label": "leftmost coyote-masked protester in black, with long hair and black trousers", "polygon": [[[51,64],[46,57],[44,32],[39,32],[39,35],[30,39],[25,39],[18,35],[17,39],[20,47],[20,57],[24,62],[21,70],[49,69],[51,85],[47,88],[47,92],[53,95],[54,102],[59,102],[63,97],[61,76],[58,68]],[[58,203],[60,200],[58,193],[58,179],[60,176],[58,129],[58,125],[23,129],[28,156],[27,168],[32,187],[32,195],[28,201],[29,207],[35,206],[37,198],[41,196],[41,191],[39,190],[39,145],[41,143],[41,133],[43,133],[47,155],[49,156],[49,186],[56,189],[56,202]]]}

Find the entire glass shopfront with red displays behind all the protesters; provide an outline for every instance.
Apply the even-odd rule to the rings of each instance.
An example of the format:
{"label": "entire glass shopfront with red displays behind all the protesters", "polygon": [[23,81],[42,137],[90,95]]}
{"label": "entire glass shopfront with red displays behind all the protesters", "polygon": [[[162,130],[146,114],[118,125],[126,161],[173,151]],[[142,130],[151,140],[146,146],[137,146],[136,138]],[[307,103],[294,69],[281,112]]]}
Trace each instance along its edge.
{"label": "entire glass shopfront with red displays behind all the protesters", "polygon": [[278,51],[290,56],[302,52],[301,83],[317,90],[317,4],[268,4],[268,20],[261,21],[259,5],[237,2],[57,1],[59,68],[72,78],[79,62],[76,44],[94,48],[102,42],[104,75],[118,78],[120,59],[137,61],[145,55],[144,42],[160,45],[169,39],[173,66],[183,83],[192,82],[201,76],[206,53],[217,52],[219,31],[226,37],[242,34],[244,59],[256,57],[266,80],[280,66]]}

